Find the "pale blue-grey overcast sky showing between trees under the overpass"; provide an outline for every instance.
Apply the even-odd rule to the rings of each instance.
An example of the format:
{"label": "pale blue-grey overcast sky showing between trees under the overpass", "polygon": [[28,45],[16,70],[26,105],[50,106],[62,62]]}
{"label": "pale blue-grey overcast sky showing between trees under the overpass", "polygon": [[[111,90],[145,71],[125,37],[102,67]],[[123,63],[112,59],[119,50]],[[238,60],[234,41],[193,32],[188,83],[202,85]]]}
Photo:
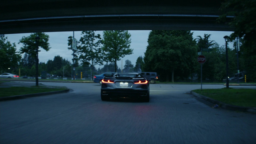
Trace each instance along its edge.
{"label": "pale blue-grey overcast sky showing between trees under the overpass", "polygon": [[[123,60],[123,68],[125,65],[125,60],[130,60],[135,66],[136,60],[139,56],[144,57],[144,53],[146,52],[147,48],[147,39],[148,34],[150,33],[149,30],[129,30],[128,31],[131,34],[131,47],[133,49],[133,54],[127,55],[124,58],[121,58]],[[211,34],[210,40],[216,41],[220,46],[225,45],[225,39],[223,38],[225,35],[230,35],[232,32],[230,31],[191,31],[193,32],[193,38],[197,38],[198,35],[201,37],[204,36],[204,34]],[[101,37],[103,36],[103,31],[96,31],[95,33],[101,34]],[[22,43],[18,44],[19,40],[23,36],[29,36],[31,33],[23,33],[23,34],[6,34],[5,37],[8,37],[8,41],[11,43],[16,44],[17,51],[20,50],[20,48],[23,46]],[[66,60],[70,61],[72,63],[73,56],[72,51],[68,50],[68,37],[73,36],[73,31],[69,32],[50,32],[45,33],[49,35],[49,43],[50,43],[50,50],[46,52],[44,49],[39,48],[41,52],[38,54],[39,62],[47,62],[48,60],[53,60],[54,56],[61,56],[65,58]],[[80,39],[81,37],[81,31],[75,31],[75,38]],[[121,68],[121,60],[117,62],[117,65],[119,68]],[[103,66],[96,65],[96,69],[102,68]]]}

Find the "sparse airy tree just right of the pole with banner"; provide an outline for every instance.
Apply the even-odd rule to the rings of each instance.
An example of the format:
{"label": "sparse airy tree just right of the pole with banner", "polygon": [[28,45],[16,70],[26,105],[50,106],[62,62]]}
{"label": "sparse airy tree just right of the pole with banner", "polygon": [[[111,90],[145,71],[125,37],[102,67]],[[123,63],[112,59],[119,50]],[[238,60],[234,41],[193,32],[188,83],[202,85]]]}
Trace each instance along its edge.
{"label": "sparse airy tree just right of the pole with banner", "polygon": [[[102,65],[101,35],[95,35],[94,31],[82,31],[80,38],[81,45],[78,47],[79,58],[83,64],[91,65],[91,77],[93,79],[93,67],[96,64]],[[91,62],[91,63],[90,63]]]}

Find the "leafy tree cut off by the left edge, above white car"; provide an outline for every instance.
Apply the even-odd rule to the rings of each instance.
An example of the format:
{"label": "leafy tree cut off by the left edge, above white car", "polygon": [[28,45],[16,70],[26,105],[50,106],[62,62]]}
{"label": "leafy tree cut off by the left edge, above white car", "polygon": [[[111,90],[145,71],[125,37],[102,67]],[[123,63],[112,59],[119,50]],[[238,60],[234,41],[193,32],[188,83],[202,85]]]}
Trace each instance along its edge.
{"label": "leafy tree cut off by the left edge, above white car", "polygon": [[0,35],[0,69],[1,73],[7,71],[8,68],[18,68],[20,54],[16,52],[15,43],[10,43],[7,37]]}

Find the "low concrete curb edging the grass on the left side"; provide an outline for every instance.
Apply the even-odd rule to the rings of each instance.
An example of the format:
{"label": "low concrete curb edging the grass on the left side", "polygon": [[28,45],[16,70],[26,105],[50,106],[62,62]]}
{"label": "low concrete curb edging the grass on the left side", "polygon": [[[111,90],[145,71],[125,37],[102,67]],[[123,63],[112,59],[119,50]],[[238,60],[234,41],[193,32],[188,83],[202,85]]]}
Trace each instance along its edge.
{"label": "low concrete curb edging the grass on the left side", "polygon": [[63,91],[49,91],[49,92],[41,92],[41,93],[27,94],[27,95],[6,96],[6,97],[1,97],[0,101],[10,101],[10,100],[15,100],[15,99],[31,98],[31,97],[35,97],[35,96],[60,94],[60,93],[68,92],[68,91],[69,91],[69,89],[63,90]]}

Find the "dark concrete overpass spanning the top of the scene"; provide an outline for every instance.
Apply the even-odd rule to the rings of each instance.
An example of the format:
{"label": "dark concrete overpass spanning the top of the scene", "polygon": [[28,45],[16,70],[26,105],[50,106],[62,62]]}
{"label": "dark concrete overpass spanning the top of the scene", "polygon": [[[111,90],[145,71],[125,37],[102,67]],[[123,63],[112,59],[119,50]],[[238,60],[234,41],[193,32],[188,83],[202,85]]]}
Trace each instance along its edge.
{"label": "dark concrete overpass spanning the top of the scene", "polygon": [[1,0],[0,34],[83,30],[233,31],[223,0]]}

